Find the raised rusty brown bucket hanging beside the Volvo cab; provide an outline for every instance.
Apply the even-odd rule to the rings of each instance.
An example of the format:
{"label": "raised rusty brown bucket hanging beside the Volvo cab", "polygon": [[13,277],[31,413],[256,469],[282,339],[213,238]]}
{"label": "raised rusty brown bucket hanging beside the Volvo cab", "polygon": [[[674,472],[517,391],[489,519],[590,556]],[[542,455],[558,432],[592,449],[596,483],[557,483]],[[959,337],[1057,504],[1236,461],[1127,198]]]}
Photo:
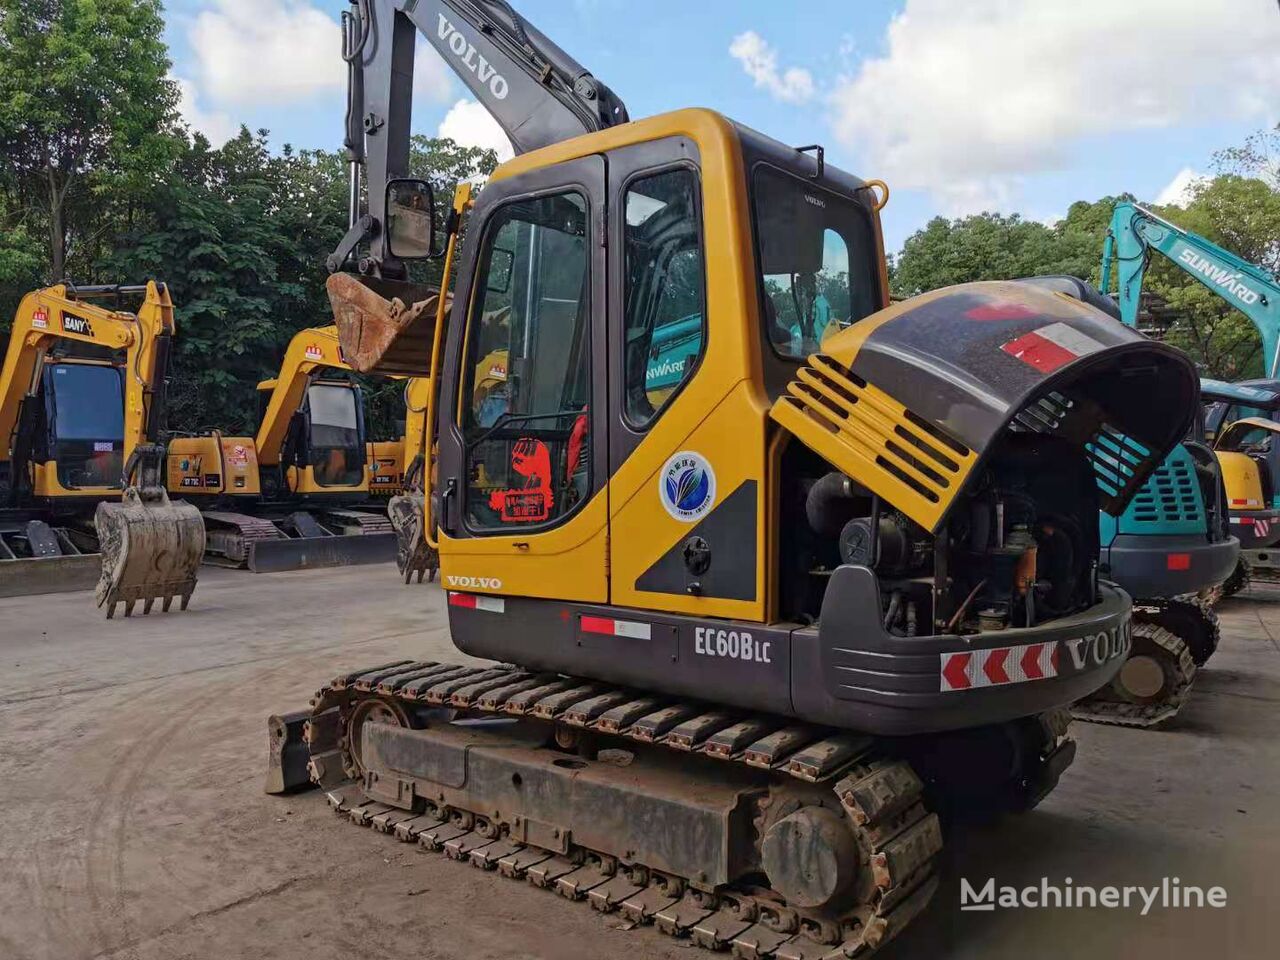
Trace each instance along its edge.
{"label": "raised rusty brown bucket hanging beside the Volvo cab", "polygon": [[425,376],[439,291],[419,283],[332,274],[325,282],[342,357],[362,374]]}

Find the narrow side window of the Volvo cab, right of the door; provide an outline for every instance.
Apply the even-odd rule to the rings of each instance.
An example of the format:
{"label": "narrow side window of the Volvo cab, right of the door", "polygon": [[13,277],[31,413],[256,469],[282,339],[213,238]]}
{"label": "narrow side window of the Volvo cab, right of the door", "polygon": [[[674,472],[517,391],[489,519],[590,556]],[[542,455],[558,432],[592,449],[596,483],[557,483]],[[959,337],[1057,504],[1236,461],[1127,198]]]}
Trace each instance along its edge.
{"label": "narrow side window of the Volvo cab, right of the door", "polygon": [[623,407],[636,429],[680,390],[703,352],[698,209],[698,177],[687,168],[641,177],[627,187]]}

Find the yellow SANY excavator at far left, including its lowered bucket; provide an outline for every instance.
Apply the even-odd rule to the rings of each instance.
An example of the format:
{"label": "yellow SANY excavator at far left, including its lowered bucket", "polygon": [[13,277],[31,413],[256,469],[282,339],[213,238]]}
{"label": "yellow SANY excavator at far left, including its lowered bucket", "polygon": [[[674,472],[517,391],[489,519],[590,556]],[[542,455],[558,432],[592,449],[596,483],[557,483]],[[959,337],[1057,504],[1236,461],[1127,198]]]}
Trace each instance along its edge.
{"label": "yellow SANY excavator at far left, including its lowered bucket", "polygon": [[97,581],[108,617],[186,609],[204,526],[159,479],[173,335],[163,283],[22,298],[0,369],[0,595]]}

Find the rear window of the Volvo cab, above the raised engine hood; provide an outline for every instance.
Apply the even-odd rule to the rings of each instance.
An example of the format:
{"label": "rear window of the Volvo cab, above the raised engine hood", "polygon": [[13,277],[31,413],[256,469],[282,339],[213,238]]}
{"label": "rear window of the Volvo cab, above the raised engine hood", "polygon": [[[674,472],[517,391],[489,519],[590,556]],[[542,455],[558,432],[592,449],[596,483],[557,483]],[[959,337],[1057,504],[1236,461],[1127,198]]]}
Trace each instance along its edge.
{"label": "rear window of the Volvo cab, above the raised engine hood", "polygon": [[771,166],[753,177],[765,334],[801,360],[877,308],[877,264],[867,211]]}

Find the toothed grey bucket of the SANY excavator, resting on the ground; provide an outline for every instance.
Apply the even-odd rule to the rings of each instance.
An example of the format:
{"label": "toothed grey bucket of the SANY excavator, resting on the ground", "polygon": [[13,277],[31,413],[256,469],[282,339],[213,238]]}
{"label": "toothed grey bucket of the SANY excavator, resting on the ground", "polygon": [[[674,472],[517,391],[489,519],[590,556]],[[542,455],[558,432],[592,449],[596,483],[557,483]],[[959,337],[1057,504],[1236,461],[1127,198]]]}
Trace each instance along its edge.
{"label": "toothed grey bucket of the SANY excavator, resting on the ground", "polygon": [[[102,552],[102,576],[95,596],[115,616],[124,604],[124,616],[142,600],[150,613],[159,599],[169,611],[174,596],[187,609],[196,589],[196,571],[205,554],[205,521],[200,511],[183,500],[170,502],[160,483],[164,448],[138,447],[124,470],[124,493],[119,503],[100,503],[93,516]],[[140,481],[133,483],[138,475]]]}

